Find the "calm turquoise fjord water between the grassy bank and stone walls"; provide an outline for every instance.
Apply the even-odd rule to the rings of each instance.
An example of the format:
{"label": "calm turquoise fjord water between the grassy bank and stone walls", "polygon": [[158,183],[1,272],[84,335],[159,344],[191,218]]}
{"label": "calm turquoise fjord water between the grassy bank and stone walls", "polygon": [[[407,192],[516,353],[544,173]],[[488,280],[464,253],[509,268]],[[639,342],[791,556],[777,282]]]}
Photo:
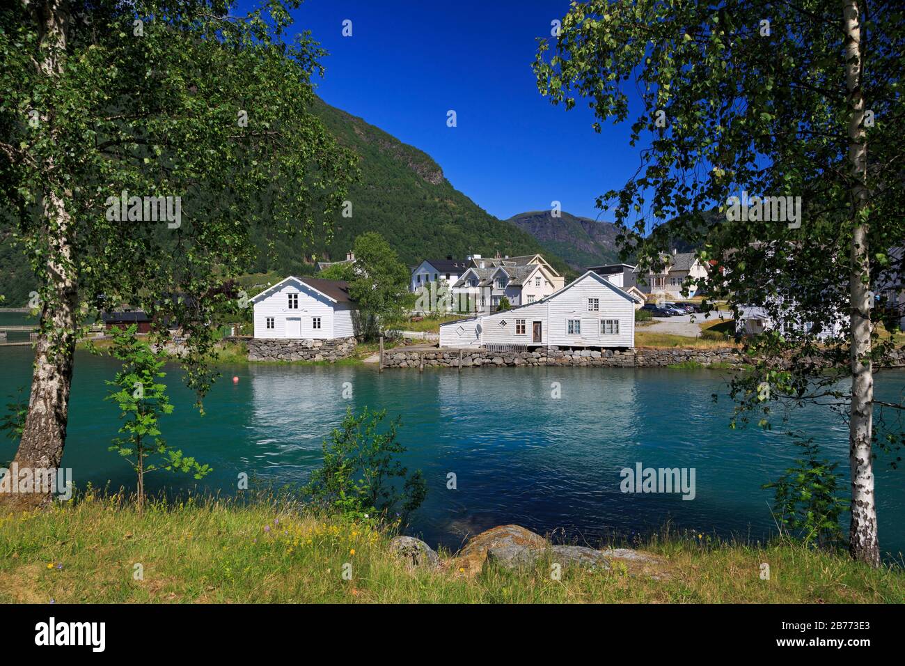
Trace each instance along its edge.
{"label": "calm turquoise fjord water between the grassy bank and stone walls", "polygon": [[[30,381],[31,350],[0,349],[0,398]],[[79,353],[63,466],[78,486],[134,484],[107,450],[118,410],[102,401],[116,370],[107,358]],[[761,538],[775,529],[760,486],[795,457],[778,432],[729,430],[731,404],[719,372],[665,369],[483,368],[472,372],[376,372],[374,367],[248,364],[224,369],[205,400],[206,416],[170,368],[174,413],[162,421],[170,444],[214,467],[202,482],[232,493],[238,475],[302,483],[319,466],[320,442],[347,407],[401,414],[405,462],[421,468],[427,500],[410,533],[457,547],[491,526],[517,523],[576,541],[659,529],[667,520],[704,533]],[[236,375],[239,383],[233,384]],[[344,384],[352,397],[342,397]],[[559,382],[562,398],[551,398]],[[905,372],[878,378],[878,396],[898,401]],[[720,394],[714,404],[710,395]],[[6,400],[2,401],[4,404]],[[0,407],[0,413],[5,407]],[[848,435],[828,410],[795,412],[795,426],[821,442],[847,474]],[[0,461],[14,455],[0,443]],[[621,468],[695,468],[696,497],[624,494]],[[903,470],[881,455],[876,466],[884,551],[905,551]],[[447,474],[457,489],[447,489]],[[160,472],[166,475],[166,472]],[[186,488],[193,479],[149,477],[151,489]],[[847,485],[847,480],[846,480]],[[847,521],[847,517],[846,517]]]}

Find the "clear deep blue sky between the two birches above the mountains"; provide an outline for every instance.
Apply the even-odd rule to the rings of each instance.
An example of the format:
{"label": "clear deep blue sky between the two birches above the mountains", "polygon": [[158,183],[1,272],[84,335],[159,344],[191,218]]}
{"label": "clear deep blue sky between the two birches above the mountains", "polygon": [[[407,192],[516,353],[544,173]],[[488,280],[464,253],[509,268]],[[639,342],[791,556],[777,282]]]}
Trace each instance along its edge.
{"label": "clear deep blue sky between the two birches above the mountains", "polygon": [[[243,0],[242,6],[250,3]],[[452,3],[306,0],[295,28],[329,51],[317,81],[329,104],[424,150],[454,188],[492,215],[548,209],[611,219],[595,197],[637,169],[629,123],[596,134],[586,105],[565,111],[538,93],[536,37],[567,0]],[[342,22],[352,36],[342,36]],[[456,111],[458,126],[446,126]]]}

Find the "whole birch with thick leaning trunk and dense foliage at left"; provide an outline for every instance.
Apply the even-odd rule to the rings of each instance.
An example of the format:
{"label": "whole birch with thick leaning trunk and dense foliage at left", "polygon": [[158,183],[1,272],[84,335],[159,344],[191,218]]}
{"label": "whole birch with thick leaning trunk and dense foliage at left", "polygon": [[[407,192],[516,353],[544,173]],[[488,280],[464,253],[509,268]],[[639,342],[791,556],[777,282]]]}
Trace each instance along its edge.
{"label": "whole birch with thick leaning trunk and dense foliage at left", "polygon": [[298,5],[14,0],[0,13],[0,208],[39,285],[20,467],[59,467],[90,312],[130,304],[180,329],[203,394],[207,323],[235,306],[250,237],[269,226],[301,248],[329,234],[354,161],[309,111],[324,52],[288,34]]}

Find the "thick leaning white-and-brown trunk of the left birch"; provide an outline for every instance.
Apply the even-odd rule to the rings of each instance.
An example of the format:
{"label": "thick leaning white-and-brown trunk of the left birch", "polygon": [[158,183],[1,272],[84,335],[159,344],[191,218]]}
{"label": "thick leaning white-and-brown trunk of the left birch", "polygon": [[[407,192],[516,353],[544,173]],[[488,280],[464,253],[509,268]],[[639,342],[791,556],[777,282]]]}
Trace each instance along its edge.
{"label": "thick leaning white-and-brown trunk of the left birch", "polygon": [[[69,14],[65,0],[45,0],[34,5],[40,26],[41,63],[44,76],[62,72]],[[43,110],[43,131],[52,132],[52,113]],[[44,165],[47,178],[43,192],[43,234],[47,247],[48,289],[41,311],[38,342],[35,348],[32,392],[28,403],[22,439],[14,462],[19,468],[59,468],[69,418],[69,393],[72,381],[72,357],[78,326],[78,290],[73,262],[73,225],[64,196],[55,178],[52,159]],[[40,506],[52,499],[52,488],[15,497],[17,505]]]}

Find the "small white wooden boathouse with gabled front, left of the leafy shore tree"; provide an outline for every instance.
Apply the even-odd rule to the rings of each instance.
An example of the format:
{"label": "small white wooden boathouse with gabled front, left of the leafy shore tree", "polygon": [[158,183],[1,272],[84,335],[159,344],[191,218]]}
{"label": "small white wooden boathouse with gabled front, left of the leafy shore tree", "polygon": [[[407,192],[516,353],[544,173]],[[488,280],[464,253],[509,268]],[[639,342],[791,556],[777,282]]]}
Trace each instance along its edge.
{"label": "small white wooden boathouse with gabled front, left of the leafy shore tree", "polygon": [[341,280],[287,277],[252,298],[254,337],[333,340],[354,334],[355,302]]}

